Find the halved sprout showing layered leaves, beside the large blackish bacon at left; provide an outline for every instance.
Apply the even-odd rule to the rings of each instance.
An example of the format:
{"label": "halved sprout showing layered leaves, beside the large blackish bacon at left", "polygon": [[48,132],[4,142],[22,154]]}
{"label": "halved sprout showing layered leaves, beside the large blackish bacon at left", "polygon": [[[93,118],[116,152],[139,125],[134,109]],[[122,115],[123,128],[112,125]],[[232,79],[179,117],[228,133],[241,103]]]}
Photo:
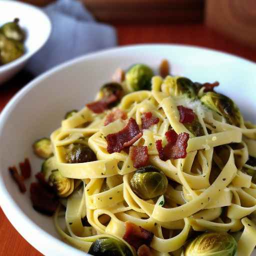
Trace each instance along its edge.
{"label": "halved sprout showing layered leaves, beside the large blackish bacon at left", "polygon": [[48,179],[48,183],[55,188],[59,196],[62,196],[70,189],[71,182],[72,179],[63,177],[58,169],[52,170]]}

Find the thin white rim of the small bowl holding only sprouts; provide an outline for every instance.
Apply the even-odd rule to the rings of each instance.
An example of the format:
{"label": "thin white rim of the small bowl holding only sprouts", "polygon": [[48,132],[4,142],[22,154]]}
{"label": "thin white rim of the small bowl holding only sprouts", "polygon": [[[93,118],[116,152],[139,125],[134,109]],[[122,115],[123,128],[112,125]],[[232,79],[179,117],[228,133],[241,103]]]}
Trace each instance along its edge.
{"label": "thin white rim of the small bowl holding only sprouts", "polygon": [[7,4],[13,4],[14,6],[16,6],[18,8],[18,6],[25,6],[28,9],[31,9],[31,11],[37,11],[40,12],[41,16],[44,18],[44,22],[45,24],[48,26],[48,30],[47,33],[45,34],[45,37],[43,40],[41,40],[39,46],[37,48],[35,48],[34,50],[29,50],[27,48],[27,52],[25,52],[22,56],[18,57],[17,59],[14,59],[13,61],[7,63],[7,64],[3,64],[0,65],[0,73],[3,73],[7,70],[10,70],[12,68],[14,68],[15,66],[18,66],[19,64],[27,61],[33,54],[35,54],[48,40],[51,30],[52,30],[52,25],[51,25],[51,21],[49,19],[49,17],[47,16],[47,14],[41,10],[40,8],[33,6],[29,3],[24,3],[24,2],[18,2],[18,1],[12,1],[12,0],[1,0],[1,3],[7,3]]}

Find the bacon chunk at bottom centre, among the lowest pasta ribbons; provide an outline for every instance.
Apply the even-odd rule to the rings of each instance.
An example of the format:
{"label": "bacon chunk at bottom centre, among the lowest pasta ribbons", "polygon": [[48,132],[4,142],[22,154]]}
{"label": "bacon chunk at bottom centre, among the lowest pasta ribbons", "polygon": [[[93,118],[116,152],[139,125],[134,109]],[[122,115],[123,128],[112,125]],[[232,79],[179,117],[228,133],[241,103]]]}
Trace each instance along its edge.
{"label": "bacon chunk at bottom centre, among the lowest pasta ribbons", "polygon": [[127,221],[125,222],[125,233],[122,238],[137,250],[142,244],[149,245],[153,235],[152,232],[141,226]]}

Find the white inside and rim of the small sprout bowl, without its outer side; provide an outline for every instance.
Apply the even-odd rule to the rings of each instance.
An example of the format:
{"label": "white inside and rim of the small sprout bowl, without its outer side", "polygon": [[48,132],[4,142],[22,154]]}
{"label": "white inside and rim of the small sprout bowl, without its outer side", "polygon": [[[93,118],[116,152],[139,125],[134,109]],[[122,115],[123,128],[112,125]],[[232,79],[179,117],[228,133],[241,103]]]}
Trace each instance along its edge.
{"label": "white inside and rim of the small sprout bowl, without its outer side", "polygon": [[[19,18],[19,24],[25,30],[25,54],[19,59],[35,52],[44,44],[50,32],[50,22],[40,9],[17,1],[1,0],[0,10],[0,25]],[[0,70],[10,63],[0,66]]]}

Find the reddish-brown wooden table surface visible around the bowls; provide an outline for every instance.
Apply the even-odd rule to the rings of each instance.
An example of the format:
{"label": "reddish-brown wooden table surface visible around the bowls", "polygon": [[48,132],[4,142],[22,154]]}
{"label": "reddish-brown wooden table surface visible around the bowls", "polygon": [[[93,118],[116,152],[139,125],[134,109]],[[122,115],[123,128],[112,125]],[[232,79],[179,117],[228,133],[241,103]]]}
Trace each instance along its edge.
{"label": "reddish-brown wooden table surface visible around the bowls", "polygon": [[[184,43],[233,53],[256,62],[256,49],[243,46],[202,24],[115,25],[120,45],[133,43]],[[32,75],[21,71],[0,87],[0,111]],[[41,255],[14,229],[0,208],[0,255]]]}

